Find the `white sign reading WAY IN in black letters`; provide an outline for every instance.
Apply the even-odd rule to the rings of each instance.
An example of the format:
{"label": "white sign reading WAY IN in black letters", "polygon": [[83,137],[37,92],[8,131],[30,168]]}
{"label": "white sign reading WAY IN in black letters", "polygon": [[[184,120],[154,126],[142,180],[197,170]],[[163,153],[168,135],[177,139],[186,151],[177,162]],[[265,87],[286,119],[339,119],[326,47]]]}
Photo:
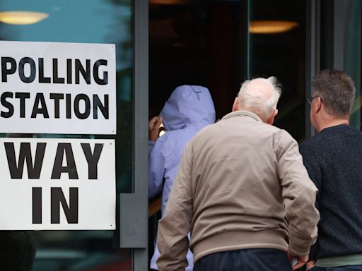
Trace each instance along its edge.
{"label": "white sign reading WAY IN in black letters", "polygon": [[0,230],[115,229],[115,140],[0,138]]}

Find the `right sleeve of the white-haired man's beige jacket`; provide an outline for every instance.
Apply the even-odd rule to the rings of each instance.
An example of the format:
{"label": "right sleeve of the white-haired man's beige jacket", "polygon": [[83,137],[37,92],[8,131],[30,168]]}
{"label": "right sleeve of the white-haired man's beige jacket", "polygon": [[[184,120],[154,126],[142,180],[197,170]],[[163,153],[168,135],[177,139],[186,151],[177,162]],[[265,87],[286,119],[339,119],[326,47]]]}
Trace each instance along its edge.
{"label": "right sleeve of the white-haired man's beige jacket", "polygon": [[308,255],[317,239],[319,212],[315,208],[317,188],[309,179],[298,144],[286,131],[279,134],[277,144],[278,174],[288,219],[289,251]]}

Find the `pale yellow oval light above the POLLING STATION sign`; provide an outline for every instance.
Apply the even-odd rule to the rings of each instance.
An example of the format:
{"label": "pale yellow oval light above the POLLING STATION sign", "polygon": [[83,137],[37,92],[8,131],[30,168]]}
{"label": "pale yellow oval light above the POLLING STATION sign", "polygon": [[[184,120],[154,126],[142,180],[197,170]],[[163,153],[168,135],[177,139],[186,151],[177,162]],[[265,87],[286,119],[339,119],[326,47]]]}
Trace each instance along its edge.
{"label": "pale yellow oval light above the POLLING STATION sign", "polygon": [[33,11],[2,11],[0,22],[10,25],[31,25],[49,17],[47,13]]}

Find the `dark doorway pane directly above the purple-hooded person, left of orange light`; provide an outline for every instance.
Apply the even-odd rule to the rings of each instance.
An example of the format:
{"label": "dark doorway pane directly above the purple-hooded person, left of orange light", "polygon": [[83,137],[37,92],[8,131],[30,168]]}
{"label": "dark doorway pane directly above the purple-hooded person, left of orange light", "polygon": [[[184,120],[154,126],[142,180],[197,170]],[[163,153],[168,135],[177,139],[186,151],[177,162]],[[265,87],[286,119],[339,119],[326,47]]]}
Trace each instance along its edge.
{"label": "dark doorway pane directly above the purple-hooded person, left of orange light", "polygon": [[185,84],[209,88],[217,119],[230,112],[245,79],[246,8],[244,0],[150,1],[150,116]]}

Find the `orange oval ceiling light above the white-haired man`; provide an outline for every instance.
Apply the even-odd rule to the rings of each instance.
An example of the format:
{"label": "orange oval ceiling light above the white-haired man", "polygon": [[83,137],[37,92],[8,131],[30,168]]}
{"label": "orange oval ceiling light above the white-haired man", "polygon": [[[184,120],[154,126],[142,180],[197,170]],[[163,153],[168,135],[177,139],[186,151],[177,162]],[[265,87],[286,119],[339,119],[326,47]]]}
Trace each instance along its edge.
{"label": "orange oval ceiling light above the white-haired man", "polygon": [[299,24],[287,20],[253,20],[249,25],[252,34],[274,34],[287,32]]}

